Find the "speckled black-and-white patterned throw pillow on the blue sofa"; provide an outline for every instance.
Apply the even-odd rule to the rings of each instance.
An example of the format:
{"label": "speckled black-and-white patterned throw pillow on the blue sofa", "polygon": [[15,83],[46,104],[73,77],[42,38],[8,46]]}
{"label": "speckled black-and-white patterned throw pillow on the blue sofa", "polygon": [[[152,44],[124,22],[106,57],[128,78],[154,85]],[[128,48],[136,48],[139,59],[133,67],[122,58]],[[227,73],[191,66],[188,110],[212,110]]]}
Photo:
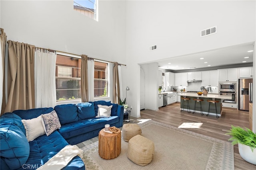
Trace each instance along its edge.
{"label": "speckled black-and-white patterned throw pillow on the blue sofa", "polygon": [[47,136],[61,127],[60,120],[55,110],[51,113],[42,114],[42,124]]}

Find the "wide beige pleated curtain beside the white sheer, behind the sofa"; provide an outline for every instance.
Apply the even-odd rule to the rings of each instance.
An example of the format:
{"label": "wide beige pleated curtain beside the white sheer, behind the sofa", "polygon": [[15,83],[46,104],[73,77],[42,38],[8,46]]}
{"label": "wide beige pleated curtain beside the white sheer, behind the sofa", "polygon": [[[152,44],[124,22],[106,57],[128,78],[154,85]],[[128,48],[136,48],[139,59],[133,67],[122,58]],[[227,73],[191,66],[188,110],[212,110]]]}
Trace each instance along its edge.
{"label": "wide beige pleated curtain beside the white sheer, behind the sofa", "polygon": [[35,46],[8,41],[8,101],[4,113],[35,107]]}

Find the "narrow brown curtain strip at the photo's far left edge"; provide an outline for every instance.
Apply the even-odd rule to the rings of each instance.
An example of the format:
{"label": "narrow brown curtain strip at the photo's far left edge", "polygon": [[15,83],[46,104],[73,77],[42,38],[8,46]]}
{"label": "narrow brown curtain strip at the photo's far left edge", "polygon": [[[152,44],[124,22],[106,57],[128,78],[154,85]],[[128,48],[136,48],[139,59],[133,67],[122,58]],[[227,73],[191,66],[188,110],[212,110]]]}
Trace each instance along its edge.
{"label": "narrow brown curtain strip at the photo's far left edge", "polygon": [[[4,29],[0,28],[0,41],[1,41],[0,106],[2,106],[3,103],[5,106],[4,58],[5,58],[6,39],[7,39],[7,36],[6,36],[6,33],[4,32]],[[4,109],[1,109],[0,113],[2,115],[2,113],[4,113]]]}

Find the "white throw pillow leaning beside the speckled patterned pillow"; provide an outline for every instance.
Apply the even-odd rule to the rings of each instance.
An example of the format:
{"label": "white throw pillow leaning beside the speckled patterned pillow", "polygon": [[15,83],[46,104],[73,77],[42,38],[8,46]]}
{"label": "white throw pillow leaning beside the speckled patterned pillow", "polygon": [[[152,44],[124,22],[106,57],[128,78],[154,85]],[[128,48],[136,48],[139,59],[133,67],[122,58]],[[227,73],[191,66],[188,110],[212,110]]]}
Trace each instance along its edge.
{"label": "white throw pillow leaning beside the speckled patterned pillow", "polygon": [[26,137],[29,142],[45,134],[41,115],[33,119],[22,119],[21,121],[26,129]]}

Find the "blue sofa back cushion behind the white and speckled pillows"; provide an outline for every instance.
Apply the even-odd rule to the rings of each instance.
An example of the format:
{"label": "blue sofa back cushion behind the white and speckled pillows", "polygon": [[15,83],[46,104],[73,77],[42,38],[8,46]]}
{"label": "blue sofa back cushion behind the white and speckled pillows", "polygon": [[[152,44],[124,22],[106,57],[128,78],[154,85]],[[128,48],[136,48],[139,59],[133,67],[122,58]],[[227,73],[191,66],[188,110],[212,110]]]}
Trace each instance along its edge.
{"label": "blue sofa back cushion behind the white and speckled pillows", "polygon": [[36,109],[28,109],[28,110],[14,110],[12,113],[20,116],[22,119],[33,119],[42,114],[50,113],[53,111],[52,107],[44,107],[44,108],[36,108]]}

